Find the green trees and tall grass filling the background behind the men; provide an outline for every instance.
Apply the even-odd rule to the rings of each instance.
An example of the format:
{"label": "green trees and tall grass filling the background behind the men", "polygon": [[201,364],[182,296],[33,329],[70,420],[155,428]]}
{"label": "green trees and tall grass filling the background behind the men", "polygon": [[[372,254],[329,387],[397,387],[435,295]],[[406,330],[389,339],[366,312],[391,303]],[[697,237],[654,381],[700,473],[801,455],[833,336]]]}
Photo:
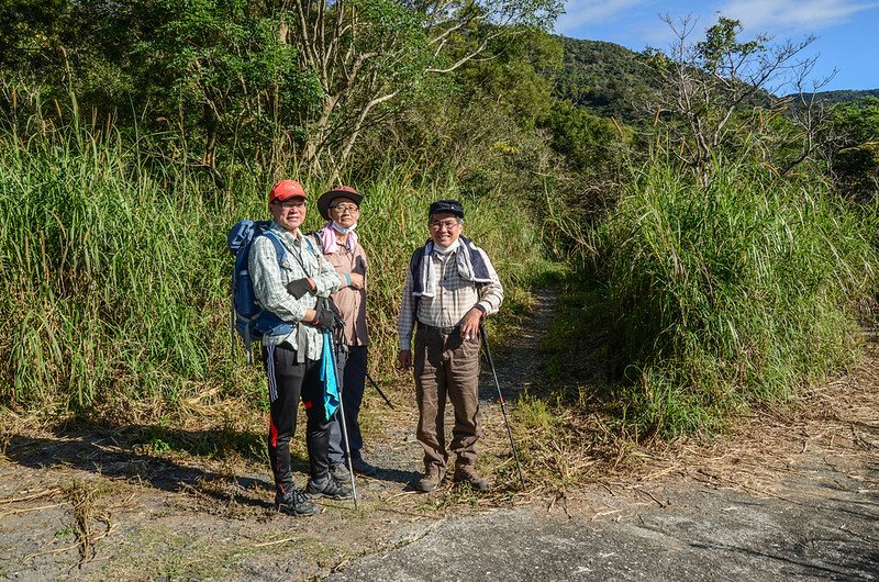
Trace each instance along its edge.
{"label": "green trees and tall grass filling the background behind the men", "polygon": [[[498,265],[494,332],[565,273],[559,369],[612,365],[569,378],[561,401],[610,403],[623,432],[717,428],[857,356],[879,116],[869,99],[769,99],[763,67],[795,75],[808,45],[753,43],[721,18],[678,38],[692,49],[635,56],[549,35],[558,2],[444,7],[2,9],[3,404],[154,418],[196,395],[262,405],[258,369],[231,349],[224,237],[266,215],[281,177],[366,194],[370,369],[388,378],[405,262],[437,198],[464,201]],[[588,345],[567,340],[585,329]]]}

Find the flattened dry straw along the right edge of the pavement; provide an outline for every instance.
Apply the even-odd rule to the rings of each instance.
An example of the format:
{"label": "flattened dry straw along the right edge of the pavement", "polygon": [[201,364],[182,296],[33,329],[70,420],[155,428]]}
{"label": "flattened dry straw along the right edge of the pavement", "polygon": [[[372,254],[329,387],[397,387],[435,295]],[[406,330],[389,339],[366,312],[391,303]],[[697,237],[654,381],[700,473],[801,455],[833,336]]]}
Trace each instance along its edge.
{"label": "flattened dry straw along the right edge of the pavement", "polygon": [[713,438],[639,446],[625,466],[604,462],[616,486],[674,480],[781,497],[816,465],[876,465],[879,451],[879,345],[834,382],[812,387],[790,406],[750,412]]}

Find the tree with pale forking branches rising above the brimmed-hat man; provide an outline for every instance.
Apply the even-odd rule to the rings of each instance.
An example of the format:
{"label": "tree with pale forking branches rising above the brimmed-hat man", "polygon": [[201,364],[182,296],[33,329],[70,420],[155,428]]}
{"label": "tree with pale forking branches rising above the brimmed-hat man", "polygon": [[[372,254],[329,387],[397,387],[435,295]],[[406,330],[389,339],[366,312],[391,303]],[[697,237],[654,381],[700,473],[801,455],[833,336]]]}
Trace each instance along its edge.
{"label": "tree with pale forking branches rising above the brimmed-hat man", "polygon": [[340,171],[366,127],[415,101],[438,77],[497,54],[504,38],[548,27],[558,0],[293,0],[288,42],[323,89],[302,161]]}

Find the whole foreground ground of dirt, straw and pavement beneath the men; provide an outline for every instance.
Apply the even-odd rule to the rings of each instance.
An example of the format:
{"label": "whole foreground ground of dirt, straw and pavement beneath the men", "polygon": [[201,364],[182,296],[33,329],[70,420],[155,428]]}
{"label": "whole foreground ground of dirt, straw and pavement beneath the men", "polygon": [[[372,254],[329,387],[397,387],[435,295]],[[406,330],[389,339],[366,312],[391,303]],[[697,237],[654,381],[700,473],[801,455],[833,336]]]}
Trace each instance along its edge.
{"label": "whole foreground ground of dirt, straw and pavement beneath the men", "polygon": [[[523,331],[492,346],[508,406],[539,378],[535,346],[553,301],[539,294]],[[0,456],[0,579],[876,579],[878,377],[870,345],[850,378],[798,412],[744,419],[741,434],[710,445],[635,450],[632,473],[550,499],[477,497],[450,484],[412,491],[414,402],[411,388],[394,388],[396,411],[375,394],[364,411],[379,475],[358,480],[357,510],[325,502],[312,518],[270,511],[258,418],[231,428],[45,430],[11,417]],[[509,475],[488,374],[480,395],[486,462]],[[301,429],[296,440],[301,482]],[[229,443],[233,454],[212,452]]]}

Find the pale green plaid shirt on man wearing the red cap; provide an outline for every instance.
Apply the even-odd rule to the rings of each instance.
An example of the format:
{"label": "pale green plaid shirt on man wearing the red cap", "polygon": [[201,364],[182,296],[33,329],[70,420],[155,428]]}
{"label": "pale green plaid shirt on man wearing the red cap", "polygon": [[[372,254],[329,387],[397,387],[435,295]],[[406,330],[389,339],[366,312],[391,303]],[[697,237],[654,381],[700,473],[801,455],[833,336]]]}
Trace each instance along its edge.
{"label": "pale green plaid shirt on man wearing the red cap", "polygon": [[[329,296],[338,287],[338,276],[319,248],[309,250],[305,237],[298,230],[290,233],[277,223],[271,223],[271,232],[278,236],[287,250],[287,261],[279,266],[278,255],[271,240],[258,237],[251,246],[247,257],[251,279],[254,282],[254,294],[259,305],[285,322],[296,324],[290,334],[282,336],[263,336],[266,345],[278,345],[287,342],[297,350],[297,360],[321,359],[323,338],[313,325],[302,324],[307,310],[313,310],[318,296]],[[287,283],[310,277],[318,287],[316,291],[305,293],[296,299],[287,292]]]}

